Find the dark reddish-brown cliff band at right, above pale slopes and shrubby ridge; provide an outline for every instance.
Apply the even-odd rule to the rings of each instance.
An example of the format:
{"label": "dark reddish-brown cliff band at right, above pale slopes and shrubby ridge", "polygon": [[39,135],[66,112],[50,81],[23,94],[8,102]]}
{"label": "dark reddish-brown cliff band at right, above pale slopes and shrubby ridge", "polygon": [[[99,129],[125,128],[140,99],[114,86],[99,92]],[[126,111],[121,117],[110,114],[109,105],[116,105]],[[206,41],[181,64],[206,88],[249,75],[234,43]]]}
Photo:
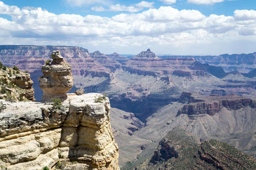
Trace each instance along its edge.
{"label": "dark reddish-brown cliff band at right, above pale slopes and shrubby ridge", "polygon": [[[182,99],[184,99],[184,93],[181,95]],[[190,95],[189,95],[190,96]],[[186,97],[185,97],[186,98]],[[180,99],[181,101],[184,101]],[[187,99],[190,100],[190,99]],[[238,110],[241,108],[245,108],[247,106],[251,108],[256,107],[256,102],[252,99],[246,97],[240,97],[236,95],[231,96],[209,96],[208,99],[204,99],[205,101],[195,103],[185,104],[183,108],[181,108],[177,112],[177,116],[180,114],[209,114],[213,116],[214,114],[220,112],[222,108],[226,108],[228,110]]]}

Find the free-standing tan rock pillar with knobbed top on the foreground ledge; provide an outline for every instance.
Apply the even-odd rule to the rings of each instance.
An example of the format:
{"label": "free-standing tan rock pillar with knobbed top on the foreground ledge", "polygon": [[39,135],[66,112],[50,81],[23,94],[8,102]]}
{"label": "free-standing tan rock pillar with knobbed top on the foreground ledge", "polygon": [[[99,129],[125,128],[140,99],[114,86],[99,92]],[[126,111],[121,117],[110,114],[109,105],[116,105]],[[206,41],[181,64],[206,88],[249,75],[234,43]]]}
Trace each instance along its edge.
{"label": "free-standing tan rock pillar with knobbed top on the foreground ledge", "polygon": [[51,98],[67,99],[67,92],[73,87],[71,65],[61,56],[59,51],[51,54],[53,61],[42,67],[43,76],[40,76],[40,88],[44,94],[42,101],[51,101]]}

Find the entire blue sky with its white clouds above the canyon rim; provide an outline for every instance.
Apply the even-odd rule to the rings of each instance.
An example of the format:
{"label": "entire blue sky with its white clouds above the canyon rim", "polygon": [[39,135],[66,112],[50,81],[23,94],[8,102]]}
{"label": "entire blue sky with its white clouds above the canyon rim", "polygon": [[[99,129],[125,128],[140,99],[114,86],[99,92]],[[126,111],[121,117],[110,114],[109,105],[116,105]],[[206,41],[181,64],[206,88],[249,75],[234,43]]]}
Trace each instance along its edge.
{"label": "entire blue sky with its white clouds above the canyon rim", "polygon": [[0,0],[0,45],[105,54],[256,52],[256,0]]}

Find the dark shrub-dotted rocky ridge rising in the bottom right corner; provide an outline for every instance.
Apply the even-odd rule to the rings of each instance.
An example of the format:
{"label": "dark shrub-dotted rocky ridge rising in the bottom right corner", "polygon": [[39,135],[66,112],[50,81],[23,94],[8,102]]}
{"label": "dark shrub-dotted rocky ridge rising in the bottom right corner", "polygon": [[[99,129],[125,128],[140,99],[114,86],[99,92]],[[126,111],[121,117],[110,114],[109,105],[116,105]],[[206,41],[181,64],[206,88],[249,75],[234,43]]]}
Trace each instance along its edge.
{"label": "dark shrub-dotted rocky ridge rising in the bottom right corner", "polygon": [[211,139],[202,143],[180,128],[159,142],[150,159],[137,169],[255,169],[256,161],[237,148]]}

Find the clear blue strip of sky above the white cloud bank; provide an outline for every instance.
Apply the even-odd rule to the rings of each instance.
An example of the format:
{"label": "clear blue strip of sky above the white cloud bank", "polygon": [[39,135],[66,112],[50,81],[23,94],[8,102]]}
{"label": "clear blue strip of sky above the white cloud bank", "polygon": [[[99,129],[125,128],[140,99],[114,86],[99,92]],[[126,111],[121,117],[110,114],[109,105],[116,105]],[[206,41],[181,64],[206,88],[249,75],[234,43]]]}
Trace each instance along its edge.
{"label": "clear blue strip of sky above the white cloud bank", "polygon": [[[79,15],[100,15],[100,16],[108,16],[111,17],[116,14],[121,14],[123,11],[109,11],[109,12],[96,12],[91,10],[92,6],[108,6],[102,5],[102,3],[94,3],[94,4],[86,4],[82,3],[80,6],[74,6],[68,3],[65,0],[2,0],[2,2],[7,5],[14,5],[20,8],[23,7],[42,7],[49,12],[53,12],[55,14],[79,14]],[[86,2],[86,1],[85,1]],[[120,4],[125,6],[134,5],[141,1],[109,1],[111,5]],[[170,4],[161,2],[161,1],[147,1],[154,2],[154,8],[159,8],[160,6],[168,6]],[[235,10],[255,10],[256,9],[256,1],[255,0],[234,0],[234,1],[223,1],[219,3],[213,4],[201,4],[198,5],[196,3],[188,2],[187,0],[176,0],[176,3],[171,4],[172,7],[177,8],[178,10],[183,9],[193,9],[199,10],[204,15],[217,14],[217,15],[233,15]],[[146,10],[147,8],[144,8]],[[143,10],[142,10],[143,11]]]}

